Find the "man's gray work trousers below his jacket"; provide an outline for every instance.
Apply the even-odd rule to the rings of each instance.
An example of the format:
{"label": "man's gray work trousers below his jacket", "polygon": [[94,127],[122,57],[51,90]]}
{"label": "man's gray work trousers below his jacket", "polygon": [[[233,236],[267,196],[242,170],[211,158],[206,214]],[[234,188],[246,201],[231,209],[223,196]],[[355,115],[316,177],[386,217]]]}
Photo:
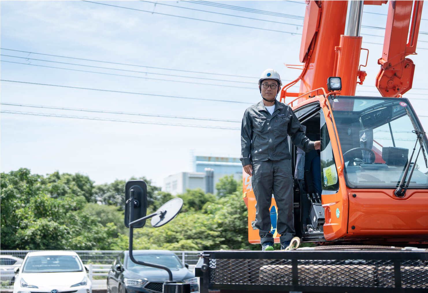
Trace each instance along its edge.
{"label": "man's gray work trousers below his jacket", "polygon": [[276,229],[281,234],[279,241],[290,241],[295,234],[291,160],[254,161],[252,165],[251,183],[257,201],[255,227],[259,229],[260,242],[273,242],[269,210],[272,191],[278,208]]}

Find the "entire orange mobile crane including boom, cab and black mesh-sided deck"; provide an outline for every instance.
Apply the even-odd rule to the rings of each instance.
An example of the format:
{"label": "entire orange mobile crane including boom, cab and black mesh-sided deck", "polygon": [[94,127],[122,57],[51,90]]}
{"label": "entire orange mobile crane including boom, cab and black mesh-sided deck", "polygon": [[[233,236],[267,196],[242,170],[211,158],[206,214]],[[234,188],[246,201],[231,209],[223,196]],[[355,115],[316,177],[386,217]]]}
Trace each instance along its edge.
{"label": "entire orange mobile crane including boom, cab and black mesh-sided deck", "polygon": [[[196,266],[201,292],[428,292],[428,141],[402,96],[412,87],[415,65],[406,56],[416,54],[423,1],[389,2],[376,79],[380,96],[355,96],[366,77],[365,65],[359,66],[366,50],[363,5],[386,2],[306,1],[304,64],[289,66],[302,72],[281,91],[281,102],[295,98],[289,105],[306,136],[321,141],[319,152],[288,145],[296,235],[323,245],[204,251]],[[299,81],[299,93],[288,92]],[[260,243],[245,172],[243,187],[248,240]],[[279,242],[276,211],[273,194],[271,233]]]}

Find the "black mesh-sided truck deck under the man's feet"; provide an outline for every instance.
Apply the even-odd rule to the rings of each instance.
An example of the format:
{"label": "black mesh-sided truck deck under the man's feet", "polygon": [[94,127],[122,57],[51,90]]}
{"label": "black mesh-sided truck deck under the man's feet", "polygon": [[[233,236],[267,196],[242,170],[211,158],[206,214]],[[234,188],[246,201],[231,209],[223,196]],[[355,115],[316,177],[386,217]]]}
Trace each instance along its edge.
{"label": "black mesh-sided truck deck under the man's feet", "polygon": [[200,292],[428,292],[428,251],[204,251]]}

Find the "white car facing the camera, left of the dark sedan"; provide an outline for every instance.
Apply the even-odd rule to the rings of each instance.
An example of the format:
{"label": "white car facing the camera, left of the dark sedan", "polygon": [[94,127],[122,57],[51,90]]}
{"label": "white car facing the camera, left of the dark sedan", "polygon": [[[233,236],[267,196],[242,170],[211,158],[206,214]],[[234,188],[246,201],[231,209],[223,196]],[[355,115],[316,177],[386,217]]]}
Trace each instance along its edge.
{"label": "white car facing the camera, left of the dark sedan", "polygon": [[29,252],[17,271],[13,293],[92,293],[92,282],[74,251]]}

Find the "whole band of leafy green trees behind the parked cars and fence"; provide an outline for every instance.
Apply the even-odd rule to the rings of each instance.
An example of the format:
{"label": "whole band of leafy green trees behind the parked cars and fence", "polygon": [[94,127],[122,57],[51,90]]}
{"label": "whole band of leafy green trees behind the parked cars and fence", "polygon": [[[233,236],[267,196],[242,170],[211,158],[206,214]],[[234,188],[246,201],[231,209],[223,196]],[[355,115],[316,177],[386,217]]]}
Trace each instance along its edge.
{"label": "whole band of leafy green trees behind the parked cars and fence", "polygon": [[[46,176],[21,168],[1,173],[2,249],[128,249],[124,224],[125,180],[94,185],[80,173]],[[131,178],[137,179],[137,178]],[[147,184],[148,213],[174,198]],[[254,248],[247,241],[247,209],[233,176],[217,183],[217,196],[201,189],[179,194],[180,214],[153,228],[134,230],[135,249],[216,250]]]}

